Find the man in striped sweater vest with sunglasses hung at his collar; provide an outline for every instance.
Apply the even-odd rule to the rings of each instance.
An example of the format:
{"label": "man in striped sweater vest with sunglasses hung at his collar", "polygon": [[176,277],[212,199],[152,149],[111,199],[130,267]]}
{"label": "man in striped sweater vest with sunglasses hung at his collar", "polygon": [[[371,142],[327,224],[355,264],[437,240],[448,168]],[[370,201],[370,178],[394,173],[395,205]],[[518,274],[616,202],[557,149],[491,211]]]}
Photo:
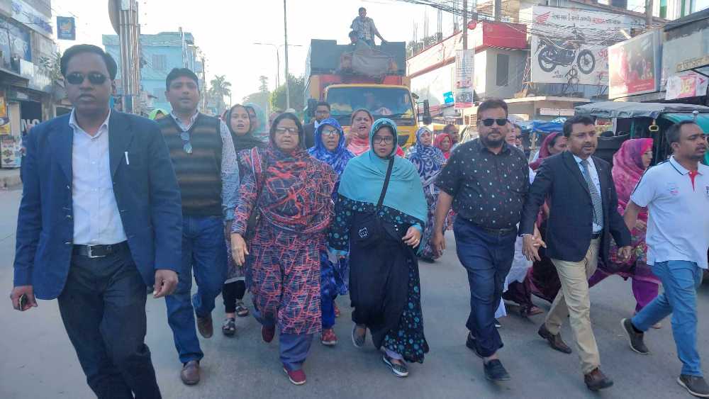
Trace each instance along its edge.
{"label": "man in striped sweater vest with sunglasses hung at his collar", "polygon": [[[177,290],[166,298],[167,321],[183,364],[180,378],[194,385],[199,383],[199,361],[204,356],[194,318],[200,335],[211,337],[214,299],[227,271],[225,223],[230,225],[234,218],[239,170],[227,126],[197,111],[196,74],[186,68],[172,69],[166,86],[172,113],[158,120],[158,125],[177,174],[183,217],[180,279]],[[198,290],[190,298],[193,272]]]}

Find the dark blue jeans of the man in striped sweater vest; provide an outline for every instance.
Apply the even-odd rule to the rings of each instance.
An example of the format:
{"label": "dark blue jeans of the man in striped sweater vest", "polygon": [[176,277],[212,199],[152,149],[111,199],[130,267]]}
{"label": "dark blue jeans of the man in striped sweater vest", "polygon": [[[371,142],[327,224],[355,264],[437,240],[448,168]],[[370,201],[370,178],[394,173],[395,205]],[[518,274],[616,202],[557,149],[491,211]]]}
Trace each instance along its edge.
{"label": "dark blue jeans of the man in striped sweater vest", "polygon": [[[182,265],[177,289],[165,298],[167,322],[182,363],[200,360],[194,315],[206,317],[214,309],[227,270],[224,223],[220,216],[189,216],[182,219]],[[192,273],[197,293],[190,298]],[[194,310],[193,310],[194,305]]]}

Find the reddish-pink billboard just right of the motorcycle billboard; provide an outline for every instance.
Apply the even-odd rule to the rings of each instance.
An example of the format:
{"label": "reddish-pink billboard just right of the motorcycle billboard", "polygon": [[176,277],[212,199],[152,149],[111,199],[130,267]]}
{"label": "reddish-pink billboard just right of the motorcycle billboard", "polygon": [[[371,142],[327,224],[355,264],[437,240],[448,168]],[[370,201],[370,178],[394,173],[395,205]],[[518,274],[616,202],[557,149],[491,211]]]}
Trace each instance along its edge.
{"label": "reddish-pink billboard just right of the motorcycle billboard", "polygon": [[643,33],[608,48],[608,98],[658,91],[660,75],[659,30]]}

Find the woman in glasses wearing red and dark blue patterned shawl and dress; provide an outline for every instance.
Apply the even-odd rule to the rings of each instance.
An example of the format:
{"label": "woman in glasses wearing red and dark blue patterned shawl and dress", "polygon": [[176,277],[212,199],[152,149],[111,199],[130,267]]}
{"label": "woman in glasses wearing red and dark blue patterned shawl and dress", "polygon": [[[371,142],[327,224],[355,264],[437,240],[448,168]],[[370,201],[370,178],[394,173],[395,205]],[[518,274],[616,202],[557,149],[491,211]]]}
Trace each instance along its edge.
{"label": "woman in glasses wearing red and dark blue patterned shawl and dress", "polygon": [[[301,385],[302,365],[322,328],[320,249],[333,218],[337,174],[304,148],[303,125],[281,114],[269,146],[240,152],[240,198],[231,247],[236,264],[246,262],[246,283],[261,336],[271,342],[279,329],[280,354],[291,383]],[[250,215],[260,219],[245,242]]]}

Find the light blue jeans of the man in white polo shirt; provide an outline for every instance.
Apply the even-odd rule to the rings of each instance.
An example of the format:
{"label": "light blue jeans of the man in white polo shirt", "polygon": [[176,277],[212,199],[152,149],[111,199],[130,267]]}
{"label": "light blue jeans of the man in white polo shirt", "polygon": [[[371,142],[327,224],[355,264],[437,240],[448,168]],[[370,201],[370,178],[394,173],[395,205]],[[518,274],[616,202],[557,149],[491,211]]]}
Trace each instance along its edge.
{"label": "light blue jeans of the man in white polo shirt", "polygon": [[647,331],[671,313],[682,374],[702,376],[697,352],[697,288],[703,270],[694,262],[669,261],[654,264],[652,271],[662,281],[664,292],[632,317],[632,324],[640,331]]}

